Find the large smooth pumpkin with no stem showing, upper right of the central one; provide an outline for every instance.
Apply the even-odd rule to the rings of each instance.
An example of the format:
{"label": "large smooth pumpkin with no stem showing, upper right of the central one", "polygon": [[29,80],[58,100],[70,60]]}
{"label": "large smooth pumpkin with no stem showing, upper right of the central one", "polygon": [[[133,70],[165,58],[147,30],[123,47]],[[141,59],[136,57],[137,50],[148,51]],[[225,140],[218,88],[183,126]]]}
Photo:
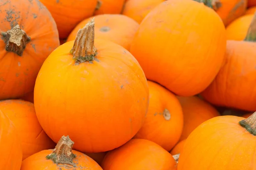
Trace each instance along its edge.
{"label": "large smooth pumpkin with no stem showing, upper right of the central one", "polygon": [[130,51],[147,79],[192,96],[217,75],[225,48],[225,28],[215,11],[193,0],[167,0],[145,17]]}

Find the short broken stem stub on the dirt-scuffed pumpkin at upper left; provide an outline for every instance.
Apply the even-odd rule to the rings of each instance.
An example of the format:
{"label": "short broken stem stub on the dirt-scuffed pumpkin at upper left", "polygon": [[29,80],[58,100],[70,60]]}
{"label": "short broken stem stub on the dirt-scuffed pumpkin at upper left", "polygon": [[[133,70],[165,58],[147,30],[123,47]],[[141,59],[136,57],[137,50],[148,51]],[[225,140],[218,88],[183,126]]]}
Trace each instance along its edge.
{"label": "short broken stem stub on the dirt-scuffed pumpkin at upper left", "polygon": [[31,40],[19,25],[7,32],[2,32],[2,36],[6,43],[6,51],[14,52],[19,56],[22,56],[26,44]]}

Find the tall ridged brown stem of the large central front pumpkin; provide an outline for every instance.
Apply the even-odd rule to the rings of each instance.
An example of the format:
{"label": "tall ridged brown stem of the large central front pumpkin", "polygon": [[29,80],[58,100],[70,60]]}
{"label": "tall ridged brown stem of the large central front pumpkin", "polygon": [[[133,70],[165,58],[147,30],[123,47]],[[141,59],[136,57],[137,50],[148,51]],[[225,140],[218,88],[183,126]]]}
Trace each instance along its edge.
{"label": "tall ridged brown stem of the large central front pumpkin", "polygon": [[84,28],[79,29],[76,35],[73,48],[70,50],[76,65],[95,60],[97,49],[94,46],[94,25],[93,18]]}

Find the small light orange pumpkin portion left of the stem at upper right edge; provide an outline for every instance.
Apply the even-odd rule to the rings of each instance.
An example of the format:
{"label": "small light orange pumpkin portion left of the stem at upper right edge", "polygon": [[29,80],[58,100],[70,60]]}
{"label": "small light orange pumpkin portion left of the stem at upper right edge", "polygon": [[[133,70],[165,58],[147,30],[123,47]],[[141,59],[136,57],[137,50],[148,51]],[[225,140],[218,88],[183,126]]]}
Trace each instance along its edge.
{"label": "small light orange pumpkin portion left of the stem at upper right edge", "polygon": [[253,14],[244,15],[234,20],[227,26],[227,40],[244,40],[252,20]]}

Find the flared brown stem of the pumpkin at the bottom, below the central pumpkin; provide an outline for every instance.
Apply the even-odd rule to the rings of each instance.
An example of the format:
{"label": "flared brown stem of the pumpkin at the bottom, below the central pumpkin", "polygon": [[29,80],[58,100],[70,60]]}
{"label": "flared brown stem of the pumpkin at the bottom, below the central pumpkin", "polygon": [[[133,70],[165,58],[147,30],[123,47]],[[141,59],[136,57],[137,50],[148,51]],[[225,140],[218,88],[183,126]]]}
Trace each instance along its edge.
{"label": "flared brown stem of the pumpkin at the bottom, below the central pumpkin", "polygon": [[76,158],[76,155],[72,153],[73,144],[74,142],[69,136],[62,136],[55,149],[46,158],[52,160],[55,164],[69,164],[76,167],[73,162],[73,159]]}

